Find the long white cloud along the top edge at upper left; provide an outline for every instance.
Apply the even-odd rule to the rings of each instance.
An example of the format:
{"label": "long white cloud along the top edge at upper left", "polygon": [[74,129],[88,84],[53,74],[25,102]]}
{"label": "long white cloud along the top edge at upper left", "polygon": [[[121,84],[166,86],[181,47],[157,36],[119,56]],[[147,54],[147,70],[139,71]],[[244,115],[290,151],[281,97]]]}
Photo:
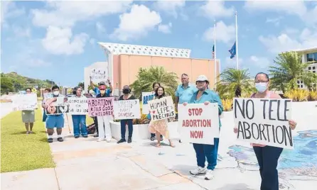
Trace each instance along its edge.
{"label": "long white cloud along the top edge at upper left", "polygon": [[47,1],[49,9],[33,9],[35,26],[71,27],[78,21],[87,21],[126,11],[131,1]]}

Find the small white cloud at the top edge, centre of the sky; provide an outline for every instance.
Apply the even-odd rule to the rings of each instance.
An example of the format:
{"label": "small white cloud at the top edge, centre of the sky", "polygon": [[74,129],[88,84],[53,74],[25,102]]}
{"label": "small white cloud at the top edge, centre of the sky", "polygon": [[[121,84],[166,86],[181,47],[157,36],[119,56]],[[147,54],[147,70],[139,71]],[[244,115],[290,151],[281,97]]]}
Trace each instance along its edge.
{"label": "small white cloud at the top edge, centre of the sky", "polygon": [[[182,9],[185,6],[185,1],[156,1],[154,2],[154,9],[156,11],[163,11],[169,15],[172,15],[174,18],[178,17],[177,11]],[[181,13],[182,18],[186,16]],[[184,17],[185,16],[185,17]]]}

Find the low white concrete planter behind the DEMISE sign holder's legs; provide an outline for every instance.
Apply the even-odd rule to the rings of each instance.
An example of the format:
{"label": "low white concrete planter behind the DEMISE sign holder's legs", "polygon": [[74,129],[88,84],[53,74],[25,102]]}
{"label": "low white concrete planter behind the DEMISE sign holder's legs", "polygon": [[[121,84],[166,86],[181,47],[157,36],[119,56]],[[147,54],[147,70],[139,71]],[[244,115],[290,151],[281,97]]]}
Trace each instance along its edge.
{"label": "low white concrete planter behind the DEMISE sign holder's legs", "polygon": [[[112,133],[112,138],[116,140],[121,139],[121,125],[120,122],[110,121],[110,128]],[[126,126],[126,139],[129,136],[128,126]],[[142,125],[133,125],[133,140],[145,140],[150,138],[149,133],[149,124],[142,124]]]}

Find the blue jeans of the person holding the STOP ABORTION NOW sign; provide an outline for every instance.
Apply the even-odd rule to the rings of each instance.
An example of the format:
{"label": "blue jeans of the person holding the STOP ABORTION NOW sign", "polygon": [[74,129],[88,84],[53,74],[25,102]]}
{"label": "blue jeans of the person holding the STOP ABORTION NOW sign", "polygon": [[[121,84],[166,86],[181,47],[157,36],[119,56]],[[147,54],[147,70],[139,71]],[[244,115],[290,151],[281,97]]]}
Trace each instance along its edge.
{"label": "blue jeans of the person holding the STOP ABORTION NOW sign", "polygon": [[215,138],[214,145],[203,145],[193,143],[193,147],[196,152],[197,165],[199,167],[205,167],[205,161],[207,158],[207,169],[214,170],[217,165],[219,138]]}

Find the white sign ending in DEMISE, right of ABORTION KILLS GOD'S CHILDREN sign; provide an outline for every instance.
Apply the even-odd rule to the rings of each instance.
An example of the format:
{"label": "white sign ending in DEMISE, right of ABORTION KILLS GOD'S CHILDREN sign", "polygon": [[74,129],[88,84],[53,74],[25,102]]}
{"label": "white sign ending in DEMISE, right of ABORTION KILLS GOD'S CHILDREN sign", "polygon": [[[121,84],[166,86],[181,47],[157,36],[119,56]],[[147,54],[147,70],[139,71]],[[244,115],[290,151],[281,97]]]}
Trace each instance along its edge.
{"label": "white sign ending in DEMISE, right of ABORTION KILLS GOD'S CHILDREN sign", "polygon": [[141,118],[139,99],[114,101],[114,119],[134,118]]}

